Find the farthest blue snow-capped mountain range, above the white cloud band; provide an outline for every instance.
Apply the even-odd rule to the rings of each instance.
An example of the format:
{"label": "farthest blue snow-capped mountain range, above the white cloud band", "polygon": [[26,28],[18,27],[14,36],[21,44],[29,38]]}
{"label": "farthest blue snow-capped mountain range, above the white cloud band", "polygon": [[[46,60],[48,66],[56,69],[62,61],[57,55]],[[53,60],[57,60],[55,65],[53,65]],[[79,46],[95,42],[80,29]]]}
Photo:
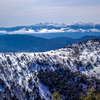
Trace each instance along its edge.
{"label": "farthest blue snow-capped mountain range, above the white cloud band", "polygon": [[96,23],[39,23],[39,24],[34,24],[34,25],[28,25],[28,26],[14,26],[14,27],[0,27],[0,31],[17,31],[20,29],[25,28],[26,30],[28,29],[33,29],[33,30],[39,30],[39,29],[60,29],[60,28],[71,28],[71,29],[100,29],[100,24]]}

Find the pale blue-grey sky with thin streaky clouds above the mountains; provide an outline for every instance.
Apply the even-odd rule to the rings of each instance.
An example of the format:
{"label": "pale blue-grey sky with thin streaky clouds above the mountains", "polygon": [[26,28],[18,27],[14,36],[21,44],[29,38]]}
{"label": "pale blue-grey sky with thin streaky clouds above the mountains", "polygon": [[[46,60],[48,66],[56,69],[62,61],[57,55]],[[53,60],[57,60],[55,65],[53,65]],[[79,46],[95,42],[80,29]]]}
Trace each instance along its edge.
{"label": "pale blue-grey sky with thin streaky clouds above the mountains", "polygon": [[100,0],[0,0],[0,27],[80,21],[100,23]]}

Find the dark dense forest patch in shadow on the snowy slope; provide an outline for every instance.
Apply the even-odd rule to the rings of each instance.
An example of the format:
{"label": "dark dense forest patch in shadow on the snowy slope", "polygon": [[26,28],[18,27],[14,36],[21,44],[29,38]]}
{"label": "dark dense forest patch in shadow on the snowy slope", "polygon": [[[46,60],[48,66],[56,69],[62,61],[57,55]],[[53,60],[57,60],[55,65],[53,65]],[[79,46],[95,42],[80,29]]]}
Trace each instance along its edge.
{"label": "dark dense forest patch in shadow on the snowy slope", "polygon": [[95,86],[97,92],[100,93],[100,80],[95,77],[87,77],[79,71],[72,72],[68,68],[60,68],[56,71],[43,71],[41,69],[38,77],[40,82],[47,86],[52,94],[56,91],[62,95],[62,100],[80,100],[81,94],[87,95],[87,91],[92,86]]}

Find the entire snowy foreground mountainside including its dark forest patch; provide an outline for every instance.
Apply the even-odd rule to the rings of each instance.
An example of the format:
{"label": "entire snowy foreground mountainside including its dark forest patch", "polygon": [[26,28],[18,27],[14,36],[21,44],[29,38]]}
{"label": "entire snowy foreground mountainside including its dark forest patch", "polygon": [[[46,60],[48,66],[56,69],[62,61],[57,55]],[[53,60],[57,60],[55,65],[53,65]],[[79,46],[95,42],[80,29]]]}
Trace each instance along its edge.
{"label": "entire snowy foreground mountainside including its dark forest patch", "polygon": [[0,53],[0,99],[79,100],[92,86],[100,87],[100,39],[58,50]]}

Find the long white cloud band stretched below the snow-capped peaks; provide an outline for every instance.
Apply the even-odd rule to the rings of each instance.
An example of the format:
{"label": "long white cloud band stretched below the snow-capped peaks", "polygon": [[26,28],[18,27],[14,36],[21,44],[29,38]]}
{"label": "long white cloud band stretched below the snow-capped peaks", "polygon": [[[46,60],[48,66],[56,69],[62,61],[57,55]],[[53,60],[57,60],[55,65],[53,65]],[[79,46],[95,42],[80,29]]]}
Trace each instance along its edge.
{"label": "long white cloud band stretched below the snow-capped peaks", "polygon": [[84,30],[84,29],[66,29],[66,28],[61,28],[61,29],[41,29],[41,30],[26,30],[25,28],[18,30],[18,31],[12,31],[12,32],[7,32],[7,31],[0,31],[0,33],[3,34],[42,34],[42,33],[63,33],[63,32],[67,32],[67,33],[74,33],[74,32],[100,32],[99,29],[88,29],[88,30]]}

